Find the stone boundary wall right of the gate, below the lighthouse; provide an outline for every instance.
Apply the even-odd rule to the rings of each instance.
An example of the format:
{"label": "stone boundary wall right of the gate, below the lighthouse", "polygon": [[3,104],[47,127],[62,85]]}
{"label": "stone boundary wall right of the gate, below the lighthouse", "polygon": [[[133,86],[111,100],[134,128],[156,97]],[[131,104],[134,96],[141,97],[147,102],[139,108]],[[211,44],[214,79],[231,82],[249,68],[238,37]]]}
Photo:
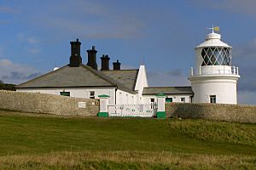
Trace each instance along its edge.
{"label": "stone boundary wall right of the gate, below the lighthouse", "polygon": [[166,103],[166,116],[256,123],[256,105]]}

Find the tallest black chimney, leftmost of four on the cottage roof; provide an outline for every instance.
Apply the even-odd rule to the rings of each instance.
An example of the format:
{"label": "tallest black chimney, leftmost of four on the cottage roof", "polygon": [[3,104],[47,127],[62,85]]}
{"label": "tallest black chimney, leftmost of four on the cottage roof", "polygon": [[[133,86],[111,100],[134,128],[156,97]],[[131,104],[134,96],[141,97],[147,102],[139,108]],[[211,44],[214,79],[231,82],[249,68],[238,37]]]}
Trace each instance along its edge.
{"label": "tallest black chimney, leftmost of four on the cottage roof", "polygon": [[76,42],[70,42],[71,44],[71,56],[69,58],[69,66],[71,67],[79,67],[82,64],[82,58],[80,56],[80,45],[79,38],[77,38]]}

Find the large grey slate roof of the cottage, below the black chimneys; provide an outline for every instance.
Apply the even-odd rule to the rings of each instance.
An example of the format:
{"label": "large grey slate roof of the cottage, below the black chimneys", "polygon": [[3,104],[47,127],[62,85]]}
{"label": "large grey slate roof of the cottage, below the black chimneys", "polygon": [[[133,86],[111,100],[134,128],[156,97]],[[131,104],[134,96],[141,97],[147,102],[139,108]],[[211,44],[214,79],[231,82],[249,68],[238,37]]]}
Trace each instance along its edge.
{"label": "large grey slate roof of the cottage, below the black chimneys", "polygon": [[[31,81],[21,83],[15,88],[118,87],[135,93],[134,88],[131,88],[131,84],[136,83],[137,78],[134,79],[132,77],[135,77],[134,75],[137,70],[127,72],[113,71],[113,75],[116,77],[113,77],[109,72],[112,71],[96,71],[90,66],[83,64],[79,67],[65,65],[56,71],[50,71]],[[127,79],[125,79],[125,76],[127,76]]]}

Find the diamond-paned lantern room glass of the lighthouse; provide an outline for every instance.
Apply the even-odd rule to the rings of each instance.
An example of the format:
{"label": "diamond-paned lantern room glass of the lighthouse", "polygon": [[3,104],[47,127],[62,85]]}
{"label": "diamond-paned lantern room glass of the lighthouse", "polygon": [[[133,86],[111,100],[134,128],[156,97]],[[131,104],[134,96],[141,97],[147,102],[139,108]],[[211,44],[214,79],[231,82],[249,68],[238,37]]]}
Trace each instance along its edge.
{"label": "diamond-paned lantern room glass of the lighthouse", "polygon": [[201,51],[203,62],[205,65],[231,65],[231,49],[230,48],[203,48]]}

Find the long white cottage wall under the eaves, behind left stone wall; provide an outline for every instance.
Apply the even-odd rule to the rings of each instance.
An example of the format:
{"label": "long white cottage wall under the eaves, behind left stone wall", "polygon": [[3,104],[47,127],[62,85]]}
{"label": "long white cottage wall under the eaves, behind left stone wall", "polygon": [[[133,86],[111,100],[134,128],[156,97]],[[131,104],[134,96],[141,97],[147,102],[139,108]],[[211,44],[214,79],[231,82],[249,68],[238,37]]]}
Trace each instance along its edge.
{"label": "long white cottage wall under the eaves, behind left stone wall", "polygon": [[108,102],[110,105],[115,104],[115,88],[19,88],[17,92],[30,92],[41,94],[61,95],[61,92],[70,92],[70,97],[90,99],[90,92],[95,92],[95,99],[98,95],[109,95]]}

